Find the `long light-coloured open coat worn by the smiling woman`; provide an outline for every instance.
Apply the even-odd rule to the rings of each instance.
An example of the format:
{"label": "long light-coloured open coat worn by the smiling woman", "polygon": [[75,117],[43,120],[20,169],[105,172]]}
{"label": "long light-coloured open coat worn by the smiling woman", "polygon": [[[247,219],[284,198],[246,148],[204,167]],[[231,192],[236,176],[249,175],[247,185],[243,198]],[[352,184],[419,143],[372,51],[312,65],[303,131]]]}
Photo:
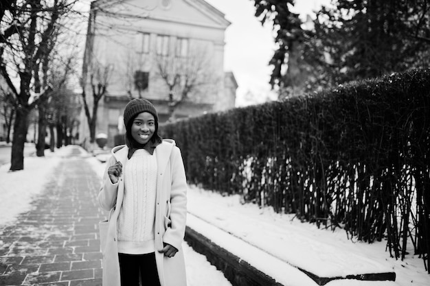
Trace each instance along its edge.
{"label": "long light-coloured open coat worn by the smiling woman", "polygon": [[[106,164],[103,184],[98,195],[99,204],[111,211],[103,254],[103,286],[120,286],[120,263],[117,246],[117,218],[124,198],[124,167],[128,162],[128,147],[120,145],[111,151],[112,156]],[[186,286],[185,262],[182,241],[185,236],[187,183],[181,151],[173,140],[164,139],[157,146],[157,195],[155,209],[155,261],[161,286]],[[122,163],[123,174],[113,184],[107,168],[117,161]],[[174,257],[165,257],[158,250],[163,243],[178,249]]]}

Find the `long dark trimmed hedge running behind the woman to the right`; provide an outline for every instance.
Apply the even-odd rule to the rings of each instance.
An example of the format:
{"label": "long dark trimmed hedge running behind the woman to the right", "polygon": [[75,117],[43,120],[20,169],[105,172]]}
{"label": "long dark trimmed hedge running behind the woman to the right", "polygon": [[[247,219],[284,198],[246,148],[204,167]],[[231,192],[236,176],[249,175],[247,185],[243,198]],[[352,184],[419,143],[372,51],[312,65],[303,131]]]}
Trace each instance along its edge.
{"label": "long dark trimmed hedge running behind the woman to the right", "polygon": [[[430,69],[162,126],[188,179],[247,202],[430,249]],[[428,261],[428,260],[427,260]],[[427,262],[428,263],[428,262]]]}

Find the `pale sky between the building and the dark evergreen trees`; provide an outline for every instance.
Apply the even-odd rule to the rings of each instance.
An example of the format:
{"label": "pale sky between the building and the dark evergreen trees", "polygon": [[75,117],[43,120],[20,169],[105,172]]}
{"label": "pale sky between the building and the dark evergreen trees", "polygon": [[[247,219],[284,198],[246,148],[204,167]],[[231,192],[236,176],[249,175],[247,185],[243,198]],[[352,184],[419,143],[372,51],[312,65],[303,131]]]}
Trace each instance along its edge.
{"label": "pale sky between the building and the dark evergreen trees", "polygon": [[[271,25],[264,27],[255,14],[252,0],[205,0],[220,12],[231,25],[225,32],[226,71],[233,71],[239,88],[236,93],[236,106],[260,104],[277,99],[269,84],[272,67],[269,60],[273,56],[275,44]],[[296,0],[291,10],[306,19],[321,4],[330,0]],[[250,93],[249,93],[250,92]]]}

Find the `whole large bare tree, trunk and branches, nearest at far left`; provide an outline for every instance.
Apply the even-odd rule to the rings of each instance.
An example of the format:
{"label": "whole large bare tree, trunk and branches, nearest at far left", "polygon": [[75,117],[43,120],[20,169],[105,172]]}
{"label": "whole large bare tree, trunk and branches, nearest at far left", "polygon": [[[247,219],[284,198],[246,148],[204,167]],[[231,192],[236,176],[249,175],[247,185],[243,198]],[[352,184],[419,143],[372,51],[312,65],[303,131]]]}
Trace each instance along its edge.
{"label": "whole large bare tree, trunk and branches, nearest at far left", "polygon": [[[0,72],[16,102],[11,171],[24,169],[24,143],[30,111],[52,91],[47,82],[49,54],[60,19],[76,0],[2,1]],[[14,82],[19,82],[15,84]]]}

